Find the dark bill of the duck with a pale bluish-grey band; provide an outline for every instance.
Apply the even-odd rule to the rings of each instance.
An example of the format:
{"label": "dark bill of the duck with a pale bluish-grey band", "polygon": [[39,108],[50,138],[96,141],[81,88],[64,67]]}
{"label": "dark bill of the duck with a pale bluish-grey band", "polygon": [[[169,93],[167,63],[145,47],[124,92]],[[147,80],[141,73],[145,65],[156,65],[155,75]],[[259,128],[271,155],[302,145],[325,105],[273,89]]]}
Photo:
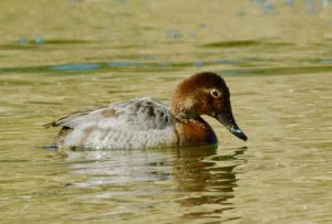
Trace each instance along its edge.
{"label": "dark bill of the duck with a pale bluish-grey band", "polygon": [[246,134],[236,124],[230,105],[220,114],[215,117],[219,122],[221,122],[232,135],[247,141]]}

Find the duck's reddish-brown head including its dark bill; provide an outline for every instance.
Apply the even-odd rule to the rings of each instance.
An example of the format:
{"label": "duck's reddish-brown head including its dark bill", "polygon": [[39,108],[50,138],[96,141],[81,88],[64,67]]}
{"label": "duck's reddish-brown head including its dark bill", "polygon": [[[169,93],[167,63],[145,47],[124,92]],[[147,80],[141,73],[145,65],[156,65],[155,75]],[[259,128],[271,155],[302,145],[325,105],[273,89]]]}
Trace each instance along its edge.
{"label": "duck's reddish-brown head including its dark bill", "polygon": [[242,140],[247,136],[237,126],[232,116],[229,89],[221,76],[211,73],[197,73],[183,81],[170,99],[174,116],[184,121],[208,115],[221,122],[231,134]]}

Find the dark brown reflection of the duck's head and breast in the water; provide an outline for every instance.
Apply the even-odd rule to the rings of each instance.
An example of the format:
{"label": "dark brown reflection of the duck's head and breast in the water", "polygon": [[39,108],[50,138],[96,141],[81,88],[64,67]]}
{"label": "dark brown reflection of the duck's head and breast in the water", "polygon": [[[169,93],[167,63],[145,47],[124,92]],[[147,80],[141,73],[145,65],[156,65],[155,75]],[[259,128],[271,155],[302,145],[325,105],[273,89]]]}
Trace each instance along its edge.
{"label": "dark brown reflection of the duck's head and breast in the water", "polygon": [[[234,198],[237,178],[234,169],[245,162],[238,156],[246,148],[229,149],[227,154],[218,154],[211,150],[181,150],[174,163],[177,190],[186,192],[178,200],[183,206],[197,206],[196,212],[188,212],[186,217],[214,216],[225,210],[231,210],[228,199]],[[193,153],[194,152],[194,153]],[[205,152],[203,154],[201,152]],[[222,152],[226,152],[224,150]],[[205,207],[209,205],[208,209]],[[217,215],[218,216],[218,215]]]}

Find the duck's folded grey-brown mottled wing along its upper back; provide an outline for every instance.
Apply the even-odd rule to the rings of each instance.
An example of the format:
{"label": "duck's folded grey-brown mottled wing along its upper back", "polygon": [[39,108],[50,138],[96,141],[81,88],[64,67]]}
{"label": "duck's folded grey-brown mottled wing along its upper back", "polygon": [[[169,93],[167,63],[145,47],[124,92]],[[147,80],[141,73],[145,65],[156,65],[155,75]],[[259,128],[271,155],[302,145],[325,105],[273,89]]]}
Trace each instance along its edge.
{"label": "duck's folded grey-brown mottled wing along its upper back", "polygon": [[121,128],[126,126],[135,130],[164,129],[174,122],[168,107],[151,98],[136,98],[124,103],[111,104],[94,110],[85,110],[62,117],[44,127],[96,126],[100,128]]}

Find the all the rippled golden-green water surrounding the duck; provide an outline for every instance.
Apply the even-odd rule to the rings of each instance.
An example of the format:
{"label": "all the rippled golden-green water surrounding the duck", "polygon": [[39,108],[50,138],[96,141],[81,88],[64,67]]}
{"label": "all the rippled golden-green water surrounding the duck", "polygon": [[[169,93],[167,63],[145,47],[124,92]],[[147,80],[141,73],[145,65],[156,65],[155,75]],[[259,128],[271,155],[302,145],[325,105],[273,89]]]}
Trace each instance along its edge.
{"label": "all the rippled golden-green water surrounding the duck", "polygon": [[[332,2],[1,1],[1,223],[331,223]],[[227,81],[249,141],[43,149],[69,113]]]}

